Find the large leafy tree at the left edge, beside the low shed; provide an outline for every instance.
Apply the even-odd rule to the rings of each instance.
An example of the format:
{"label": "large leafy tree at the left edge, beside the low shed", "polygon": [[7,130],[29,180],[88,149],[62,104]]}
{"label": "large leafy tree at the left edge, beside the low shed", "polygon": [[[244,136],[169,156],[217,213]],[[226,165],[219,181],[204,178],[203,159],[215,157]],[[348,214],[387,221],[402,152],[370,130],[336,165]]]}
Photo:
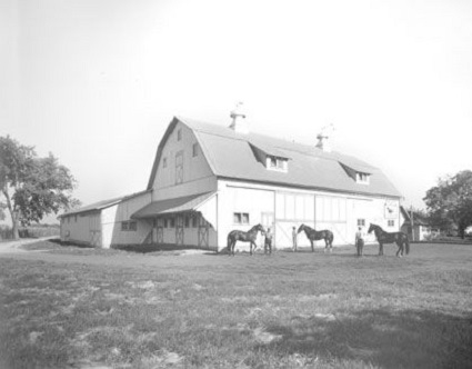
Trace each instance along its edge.
{"label": "large leafy tree at the left edge, beside the low shed", "polygon": [[[49,153],[39,158],[33,147],[20,144],[9,136],[0,137],[0,195],[8,209],[14,239],[19,223],[28,226],[44,216],[79,205],[72,198],[76,180],[69,169]],[[0,197],[0,198],[1,198]]]}

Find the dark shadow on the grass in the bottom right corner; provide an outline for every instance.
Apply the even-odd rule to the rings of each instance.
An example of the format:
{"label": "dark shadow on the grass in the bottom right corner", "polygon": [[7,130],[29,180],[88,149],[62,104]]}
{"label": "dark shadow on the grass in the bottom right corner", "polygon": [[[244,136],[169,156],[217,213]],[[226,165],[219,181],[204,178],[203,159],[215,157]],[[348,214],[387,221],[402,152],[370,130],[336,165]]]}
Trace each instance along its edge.
{"label": "dark shadow on the grass in the bottom right corner", "polygon": [[281,337],[257,349],[384,368],[472,368],[472,316],[428,310],[364,310],[355,317],[293,317],[267,331]]}

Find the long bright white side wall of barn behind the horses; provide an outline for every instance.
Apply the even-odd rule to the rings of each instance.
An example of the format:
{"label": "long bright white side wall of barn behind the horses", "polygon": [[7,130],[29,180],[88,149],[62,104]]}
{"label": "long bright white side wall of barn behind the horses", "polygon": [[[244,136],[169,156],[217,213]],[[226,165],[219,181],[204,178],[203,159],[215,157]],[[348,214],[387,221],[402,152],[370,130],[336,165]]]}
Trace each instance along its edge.
{"label": "long bright white side wall of barn behind the horses", "polygon": [[[262,215],[268,212],[274,215],[277,248],[292,247],[292,228],[298,229],[302,223],[317,230],[331,230],[334,233],[334,246],[354,243],[358,220],[363,220],[364,232],[371,222],[386,231],[400,229],[398,199],[298,190],[230,180],[219,181],[218,195],[220,249],[225,247],[227,236],[232,229],[248,230],[251,226],[262,222]],[[250,225],[235,225],[232,219],[234,212],[249,212]],[[389,226],[389,220],[393,221],[393,226]],[[366,235],[366,242],[374,241],[373,235]],[[310,245],[304,233],[298,236],[298,245]],[[324,247],[324,241],[317,241],[315,246]]]}

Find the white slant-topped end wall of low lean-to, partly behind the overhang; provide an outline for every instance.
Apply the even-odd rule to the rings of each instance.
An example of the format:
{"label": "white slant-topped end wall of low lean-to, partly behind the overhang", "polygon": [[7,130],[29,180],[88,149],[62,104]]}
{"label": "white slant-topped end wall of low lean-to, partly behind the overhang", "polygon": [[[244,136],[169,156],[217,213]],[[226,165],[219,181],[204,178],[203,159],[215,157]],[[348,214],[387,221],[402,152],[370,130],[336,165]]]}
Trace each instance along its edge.
{"label": "white slant-topped end wall of low lean-to, partly behind the overhang", "polygon": [[138,220],[135,230],[122,230],[122,222],[131,221],[131,215],[151,202],[147,192],[102,210],[102,247],[113,245],[139,245],[151,237],[152,222]]}

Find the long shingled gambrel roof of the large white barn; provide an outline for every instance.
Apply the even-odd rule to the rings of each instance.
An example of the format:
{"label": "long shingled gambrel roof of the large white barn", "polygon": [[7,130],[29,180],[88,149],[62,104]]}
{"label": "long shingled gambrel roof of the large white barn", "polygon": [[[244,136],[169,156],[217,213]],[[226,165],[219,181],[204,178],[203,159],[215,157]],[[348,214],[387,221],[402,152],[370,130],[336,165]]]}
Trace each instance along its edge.
{"label": "long shingled gambrel roof of the large white barn", "polygon": [[[380,169],[356,158],[340,152],[327,152],[314,144],[307,146],[252,132],[237,133],[224,126],[180,117],[171,121],[159,144],[148,189],[153,186],[163,146],[179,122],[193,131],[218,178],[334,192],[402,197]],[[267,170],[257,160],[251,147],[288,158],[288,171]],[[370,183],[358,183],[347,169],[370,174]]]}

